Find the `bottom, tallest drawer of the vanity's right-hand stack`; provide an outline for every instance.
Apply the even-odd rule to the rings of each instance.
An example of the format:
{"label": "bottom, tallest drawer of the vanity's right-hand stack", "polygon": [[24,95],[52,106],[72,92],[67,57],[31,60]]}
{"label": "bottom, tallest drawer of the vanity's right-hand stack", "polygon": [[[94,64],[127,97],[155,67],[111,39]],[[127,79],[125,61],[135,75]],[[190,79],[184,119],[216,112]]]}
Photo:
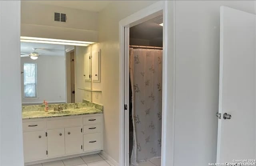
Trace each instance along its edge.
{"label": "bottom, tallest drawer of the vanity's right-hand stack", "polygon": [[102,134],[84,134],[84,151],[101,150]]}

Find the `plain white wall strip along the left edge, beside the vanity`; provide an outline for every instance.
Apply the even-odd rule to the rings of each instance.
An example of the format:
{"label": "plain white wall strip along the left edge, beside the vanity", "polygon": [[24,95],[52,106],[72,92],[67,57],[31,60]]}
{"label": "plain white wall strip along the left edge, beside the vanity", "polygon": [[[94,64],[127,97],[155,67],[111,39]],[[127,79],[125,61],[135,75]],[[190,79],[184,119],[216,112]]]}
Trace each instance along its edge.
{"label": "plain white wall strip along the left edge, beside the vanity", "polygon": [[19,55],[20,1],[0,1],[0,166],[24,166]]}

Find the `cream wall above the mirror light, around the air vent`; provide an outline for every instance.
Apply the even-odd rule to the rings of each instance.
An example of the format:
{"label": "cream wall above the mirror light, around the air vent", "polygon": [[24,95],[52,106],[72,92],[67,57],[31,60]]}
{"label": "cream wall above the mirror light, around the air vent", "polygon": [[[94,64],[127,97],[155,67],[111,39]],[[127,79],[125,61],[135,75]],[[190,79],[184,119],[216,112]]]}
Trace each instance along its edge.
{"label": "cream wall above the mirror light, around the air vent", "polygon": [[[66,22],[55,22],[54,12],[65,13]],[[98,13],[85,10],[21,2],[21,36],[98,41]]]}

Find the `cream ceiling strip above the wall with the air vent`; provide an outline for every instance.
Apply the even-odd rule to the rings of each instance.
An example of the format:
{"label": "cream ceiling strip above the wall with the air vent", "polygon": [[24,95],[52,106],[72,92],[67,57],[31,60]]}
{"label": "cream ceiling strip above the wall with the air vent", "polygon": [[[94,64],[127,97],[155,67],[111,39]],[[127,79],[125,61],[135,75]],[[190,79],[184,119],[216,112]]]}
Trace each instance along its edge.
{"label": "cream ceiling strip above the wall with the air vent", "polygon": [[99,12],[113,0],[29,0],[40,4]]}

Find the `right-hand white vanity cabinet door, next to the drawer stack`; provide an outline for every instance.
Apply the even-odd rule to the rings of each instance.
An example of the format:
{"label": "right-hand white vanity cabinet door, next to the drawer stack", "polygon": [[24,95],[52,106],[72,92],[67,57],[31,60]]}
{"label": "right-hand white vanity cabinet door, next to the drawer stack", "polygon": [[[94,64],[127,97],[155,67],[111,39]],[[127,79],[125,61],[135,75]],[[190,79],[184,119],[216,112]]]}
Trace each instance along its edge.
{"label": "right-hand white vanity cabinet door, next to the drawer stack", "polygon": [[83,134],[81,129],[81,126],[65,128],[66,154],[82,152]]}

